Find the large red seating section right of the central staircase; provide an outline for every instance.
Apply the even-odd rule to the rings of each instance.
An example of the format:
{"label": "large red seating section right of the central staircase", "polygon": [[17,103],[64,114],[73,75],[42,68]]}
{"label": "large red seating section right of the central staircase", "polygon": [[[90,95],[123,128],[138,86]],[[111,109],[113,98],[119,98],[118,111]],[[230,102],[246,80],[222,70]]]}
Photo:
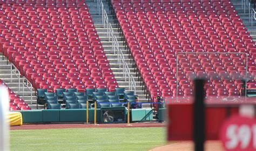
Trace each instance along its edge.
{"label": "large red seating section right of the central staircase", "polygon": [[[246,54],[256,88],[256,46],[230,0],[112,0],[120,29],[151,99],[192,94],[192,78],[210,78],[206,96],[239,95]],[[176,78],[178,56],[178,77]]]}

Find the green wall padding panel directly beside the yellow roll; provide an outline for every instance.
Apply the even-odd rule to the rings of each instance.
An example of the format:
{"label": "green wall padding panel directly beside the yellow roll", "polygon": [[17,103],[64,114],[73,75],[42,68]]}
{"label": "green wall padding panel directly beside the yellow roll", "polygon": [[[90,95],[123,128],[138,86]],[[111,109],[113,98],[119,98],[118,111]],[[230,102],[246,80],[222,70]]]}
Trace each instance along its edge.
{"label": "green wall padding panel directly beside the yellow roll", "polygon": [[22,120],[24,123],[28,122],[43,122],[42,110],[21,111]]}

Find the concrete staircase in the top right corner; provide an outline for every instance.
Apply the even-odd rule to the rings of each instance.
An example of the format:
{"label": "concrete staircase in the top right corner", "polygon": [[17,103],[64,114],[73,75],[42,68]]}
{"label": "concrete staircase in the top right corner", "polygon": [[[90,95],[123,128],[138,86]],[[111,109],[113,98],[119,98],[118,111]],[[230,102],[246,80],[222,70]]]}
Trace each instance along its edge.
{"label": "concrete staircase in the top right corner", "polygon": [[245,24],[248,32],[250,32],[250,35],[252,36],[254,42],[256,42],[256,20],[254,20],[254,18],[253,18],[253,24],[251,24],[251,22],[249,22],[248,8],[247,8],[247,6],[245,6],[246,11],[244,12],[244,9],[242,9],[240,0],[231,0],[231,2],[233,3],[235,10],[237,10],[238,15],[242,19],[242,22]]}

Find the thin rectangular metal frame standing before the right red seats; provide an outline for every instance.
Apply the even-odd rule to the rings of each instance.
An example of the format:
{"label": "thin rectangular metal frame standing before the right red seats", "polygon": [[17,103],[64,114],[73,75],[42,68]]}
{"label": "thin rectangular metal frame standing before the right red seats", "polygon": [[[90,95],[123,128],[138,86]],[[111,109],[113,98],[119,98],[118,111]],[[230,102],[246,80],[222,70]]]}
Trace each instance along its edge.
{"label": "thin rectangular metal frame standing before the right red seats", "polygon": [[[243,52],[178,52],[176,56],[176,97],[178,97],[178,67],[179,67],[179,61],[178,56],[179,54],[245,54],[246,56],[246,63],[245,63],[245,78],[247,78],[248,73],[248,53]],[[247,80],[245,80],[245,96],[246,96],[246,89],[247,89]]]}

